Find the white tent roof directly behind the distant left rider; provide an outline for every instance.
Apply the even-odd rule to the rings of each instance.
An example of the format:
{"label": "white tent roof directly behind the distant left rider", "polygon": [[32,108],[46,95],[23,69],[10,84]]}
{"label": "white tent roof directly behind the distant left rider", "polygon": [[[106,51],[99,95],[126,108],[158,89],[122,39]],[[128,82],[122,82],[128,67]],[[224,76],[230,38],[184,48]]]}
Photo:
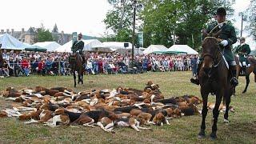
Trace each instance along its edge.
{"label": "white tent roof directly behind the distant left rider", "polygon": [[[102,42],[99,42],[98,39],[88,39],[88,40],[82,40],[82,42],[85,43],[83,50],[90,51],[94,47],[102,47]],[[72,46],[72,41],[67,42],[63,46],[58,47],[55,49],[55,51],[58,52],[72,52],[71,51],[71,46]]]}

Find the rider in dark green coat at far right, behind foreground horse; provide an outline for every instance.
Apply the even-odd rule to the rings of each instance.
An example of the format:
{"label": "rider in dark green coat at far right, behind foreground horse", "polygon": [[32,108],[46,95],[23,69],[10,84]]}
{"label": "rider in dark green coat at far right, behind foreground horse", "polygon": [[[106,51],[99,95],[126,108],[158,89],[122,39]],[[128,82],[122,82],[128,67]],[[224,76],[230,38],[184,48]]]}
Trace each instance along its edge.
{"label": "rider in dark green coat at far right, behind foreground horse", "polygon": [[247,59],[248,54],[250,54],[250,46],[247,45],[245,42],[246,42],[246,38],[241,37],[240,45],[235,50],[235,53],[239,55],[239,61],[241,62],[242,67],[246,67],[247,65],[250,66],[250,63],[248,62],[248,59]]}

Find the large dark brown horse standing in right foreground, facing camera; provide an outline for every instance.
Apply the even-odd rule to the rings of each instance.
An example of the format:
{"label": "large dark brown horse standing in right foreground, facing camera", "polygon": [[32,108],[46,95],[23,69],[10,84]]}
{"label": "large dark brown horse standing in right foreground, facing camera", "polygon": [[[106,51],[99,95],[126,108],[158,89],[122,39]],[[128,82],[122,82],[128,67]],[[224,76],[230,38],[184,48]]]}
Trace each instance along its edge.
{"label": "large dark brown horse standing in right foreground, facing camera", "polygon": [[228,121],[228,112],[230,106],[230,98],[234,93],[234,86],[231,86],[230,79],[232,77],[230,70],[226,66],[226,62],[223,57],[223,51],[220,50],[218,42],[221,40],[218,39],[218,35],[221,33],[221,30],[217,34],[207,34],[206,30],[203,31],[205,36],[204,41],[202,42],[202,66],[199,70],[199,84],[201,86],[201,95],[202,95],[202,124],[201,130],[199,131],[198,138],[205,138],[206,130],[206,115],[208,112],[207,102],[208,95],[215,94],[216,101],[213,110],[213,125],[212,132],[210,134],[211,139],[217,138],[217,122],[219,114],[219,106],[222,102],[226,104],[226,112],[224,114],[224,122]]}

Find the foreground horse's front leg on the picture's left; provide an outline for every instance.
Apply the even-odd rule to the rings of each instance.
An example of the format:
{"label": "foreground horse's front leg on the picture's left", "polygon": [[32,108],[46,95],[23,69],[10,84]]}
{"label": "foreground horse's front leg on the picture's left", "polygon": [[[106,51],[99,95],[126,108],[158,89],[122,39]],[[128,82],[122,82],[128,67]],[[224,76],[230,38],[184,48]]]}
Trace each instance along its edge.
{"label": "foreground horse's front leg on the picture's left", "polygon": [[206,115],[208,112],[207,109],[207,102],[208,102],[208,94],[209,93],[202,93],[201,91],[201,95],[202,95],[202,123],[201,123],[201,130],[198,134],[198,138],[205,138],[206,137]]}

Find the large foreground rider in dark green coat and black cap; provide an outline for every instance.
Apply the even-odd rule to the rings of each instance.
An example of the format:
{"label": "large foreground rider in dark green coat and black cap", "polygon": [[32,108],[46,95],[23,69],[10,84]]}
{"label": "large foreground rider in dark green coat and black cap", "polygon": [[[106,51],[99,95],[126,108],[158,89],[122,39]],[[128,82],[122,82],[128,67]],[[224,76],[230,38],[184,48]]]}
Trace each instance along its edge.
{"label": "large foreground rider in dark green coat and black cap", "polygon": [[[231,26],[229,23],[226,22],[226,10],[221,7],[218,8],[216,14],[217,22],[214,22],[213,25],[207,27],[207,33],[214,33],[216,34],[219,30],[221,34],[219,34],[218,38],[222,41],[219,43],[221,50],[224,51],[224,57],[228,62],[232,74],[232,78],[230,80],[232,86],[238,86],[238,79],[236,78],[236,62],[234,61],[234,54],[231,51],[231,46],[235,42],[237,42],[237,37],[235,34],[234,26]],[[198,64],[197,76],[196,78],[191,78],[190,81],[194,84],[199,85],[198,74],[200,67],[202,65],[202,59]]]}

